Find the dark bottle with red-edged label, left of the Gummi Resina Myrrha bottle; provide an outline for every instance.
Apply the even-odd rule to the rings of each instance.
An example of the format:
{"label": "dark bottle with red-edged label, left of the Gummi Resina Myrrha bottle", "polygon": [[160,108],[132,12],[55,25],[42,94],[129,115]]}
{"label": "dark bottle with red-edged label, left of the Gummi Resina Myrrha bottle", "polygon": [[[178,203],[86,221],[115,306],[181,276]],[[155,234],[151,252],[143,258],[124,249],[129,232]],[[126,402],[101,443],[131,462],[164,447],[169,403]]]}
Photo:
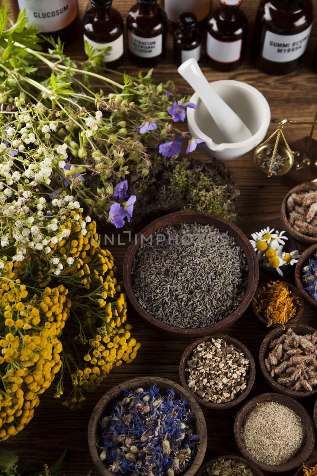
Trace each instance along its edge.
{"label": "dark bottle with red-edged label, left of the Gummi Resina Myrrha bottle", "polygon": [[218,71],[232,71],[243,60],[249,25],[241,3],[220,0],[220,7],[208,19],[206,60]]}

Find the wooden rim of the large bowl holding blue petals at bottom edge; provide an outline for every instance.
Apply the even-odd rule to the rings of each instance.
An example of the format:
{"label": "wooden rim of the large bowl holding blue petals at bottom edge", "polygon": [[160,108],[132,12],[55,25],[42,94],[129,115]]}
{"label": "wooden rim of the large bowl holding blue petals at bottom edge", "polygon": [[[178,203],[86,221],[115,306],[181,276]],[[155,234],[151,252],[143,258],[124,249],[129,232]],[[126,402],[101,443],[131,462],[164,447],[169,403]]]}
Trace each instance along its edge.
{"label": "wooden rim of the large bowl holding blue petals at bottom edge", "polygon": [[173,388],[176,397],[184,397],[190,404],[192,410],[196,434],[199,436],[199,445],[197,445],[196,447],[191,465],[188,467],[187,471],[183,473],[183,476],[194,476],[202,465],[202,461],[204,459],[207,448],[207,427],[202,410],[196,400],[192,397],[191,392],[181,387],[180,385],[172,382],[172,380],[167,380],[166,378],[138,377],[133,378],[131,380],[126,380],[125,382],[117,385],[116,387],[111,388],[111,390],[109,390],[107,393],[105,393],[103,397],[100,398],[91,414],[88,425],[88,446],[90,456],[94,462],[94,465],[102,476],[116,475],[106,469],[103,462],[99,458],[99,451],[96,446],[96,442],[99,436],[100,418],[104,414],[106,408],[111,405],[113,400],[121,394],[124,388],[147,388],[154,384],[156,384],[163,391],[167,391],[170,388]]}

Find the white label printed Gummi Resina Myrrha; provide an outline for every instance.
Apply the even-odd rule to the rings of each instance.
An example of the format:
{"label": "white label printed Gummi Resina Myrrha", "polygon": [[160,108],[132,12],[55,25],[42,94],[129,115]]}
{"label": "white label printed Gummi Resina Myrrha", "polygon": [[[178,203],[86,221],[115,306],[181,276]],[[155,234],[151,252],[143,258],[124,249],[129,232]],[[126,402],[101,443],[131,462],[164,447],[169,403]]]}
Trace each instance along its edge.
{"label": "white label printed Gummi Resina Myrrha", "polygon": [[278,35],[265,33],[262,57],[276,63],[287,63],[300,58],[307,48],[312,25],[296,35]]}

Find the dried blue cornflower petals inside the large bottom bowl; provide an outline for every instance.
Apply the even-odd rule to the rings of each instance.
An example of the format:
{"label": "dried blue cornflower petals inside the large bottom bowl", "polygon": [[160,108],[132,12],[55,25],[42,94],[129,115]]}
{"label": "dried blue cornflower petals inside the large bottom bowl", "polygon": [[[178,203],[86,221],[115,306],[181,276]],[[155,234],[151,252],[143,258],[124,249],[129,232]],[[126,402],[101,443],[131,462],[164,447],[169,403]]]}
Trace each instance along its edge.
{"label": "dried blue cornflower petals inside the large bottom bowl", "polygon": [[199,440],[189,403],[156,385],[124,389],[100,423],[100,459],[122,476],[182,474]]}

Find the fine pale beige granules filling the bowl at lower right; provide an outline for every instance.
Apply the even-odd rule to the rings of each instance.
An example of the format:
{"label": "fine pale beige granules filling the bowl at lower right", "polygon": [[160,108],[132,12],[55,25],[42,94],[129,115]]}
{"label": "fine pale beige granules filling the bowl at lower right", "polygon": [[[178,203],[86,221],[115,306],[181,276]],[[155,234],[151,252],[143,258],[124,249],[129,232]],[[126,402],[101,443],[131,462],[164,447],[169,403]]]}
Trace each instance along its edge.
{"label": "fine pale beige granules filling the bowl at lower right", "polygon": [[305,429],[293,410],[267,401],[250,410],[241,436],[251,456],[267,465],[279,466],[298,454],[305,442]]}

